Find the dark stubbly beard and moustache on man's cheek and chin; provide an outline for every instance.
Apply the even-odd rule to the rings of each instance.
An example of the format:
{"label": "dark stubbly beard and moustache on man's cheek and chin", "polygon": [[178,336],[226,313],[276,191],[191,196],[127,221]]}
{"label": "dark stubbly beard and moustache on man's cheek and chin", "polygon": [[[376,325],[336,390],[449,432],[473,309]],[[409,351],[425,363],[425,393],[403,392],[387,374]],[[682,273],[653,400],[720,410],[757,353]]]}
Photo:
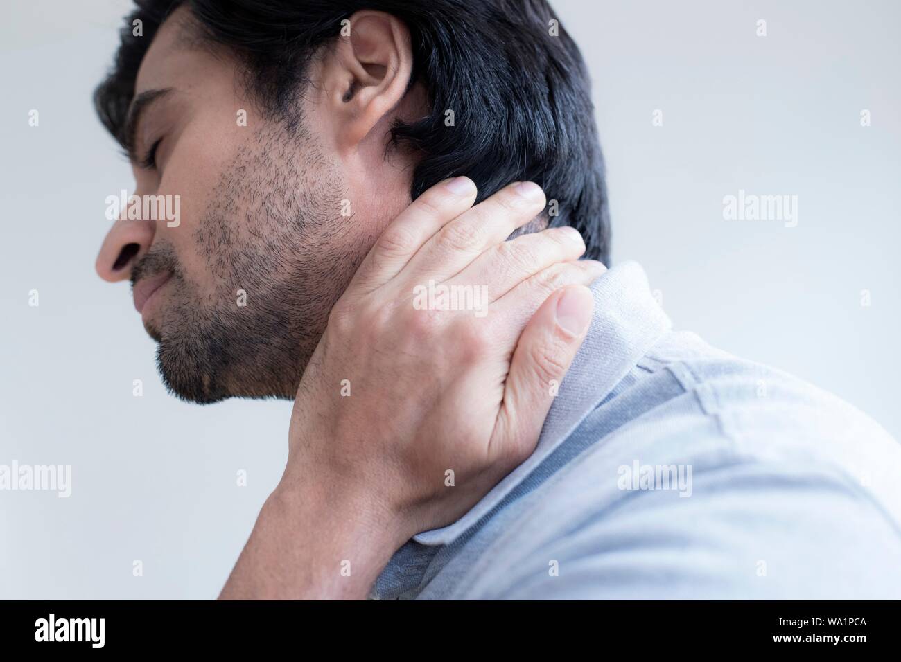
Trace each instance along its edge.
{"label": "dark stubbly beard and moustache on man's cheek and chin", "polygon": [[148,326],[170,393],[200,404],[294,398],[365,254],[359,238],[349,245],[344,197],[337,169],[302,126],[268,127],[224,168],[193,230],[212,291],[187,275],[168,243],[141,258],[132,285],[171,274],[159,327]]}

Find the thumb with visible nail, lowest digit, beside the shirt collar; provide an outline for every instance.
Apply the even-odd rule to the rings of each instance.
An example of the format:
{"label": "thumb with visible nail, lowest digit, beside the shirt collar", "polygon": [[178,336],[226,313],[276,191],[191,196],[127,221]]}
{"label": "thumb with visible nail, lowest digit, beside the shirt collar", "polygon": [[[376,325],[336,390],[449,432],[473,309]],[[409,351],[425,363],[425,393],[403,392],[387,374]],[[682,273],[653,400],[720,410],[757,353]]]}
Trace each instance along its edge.
{"label": "thumb with visible nail, lowest digit, beside the shirt collar", "polygon": [[591,323],[595,297],[566,286],[542,304],[516,343],[490,450],[521,461],[534,450],[563,376]]}

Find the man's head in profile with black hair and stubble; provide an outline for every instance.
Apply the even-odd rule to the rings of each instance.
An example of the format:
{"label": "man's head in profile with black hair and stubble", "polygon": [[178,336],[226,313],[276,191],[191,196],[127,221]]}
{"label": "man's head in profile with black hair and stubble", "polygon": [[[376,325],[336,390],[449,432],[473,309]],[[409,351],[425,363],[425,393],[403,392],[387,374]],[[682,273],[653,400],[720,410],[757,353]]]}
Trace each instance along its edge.
{"label": "man's head in profile with black hair and stubble", "polygon": [[293,397],[359,261],[447,177],[539,183],[532,229],[607,260],[587,72],[542,0],[137,5],[96,107],[180,218],[116,222],[97,270],[132,280],[173,393]]}

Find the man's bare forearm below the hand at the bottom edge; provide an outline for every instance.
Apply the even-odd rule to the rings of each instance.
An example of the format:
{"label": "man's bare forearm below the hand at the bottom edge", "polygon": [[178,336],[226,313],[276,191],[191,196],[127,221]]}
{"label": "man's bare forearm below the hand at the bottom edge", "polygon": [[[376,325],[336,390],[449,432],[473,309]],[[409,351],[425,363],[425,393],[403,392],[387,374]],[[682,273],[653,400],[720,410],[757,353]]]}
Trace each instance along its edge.
{"label": "man's bare forearm below the hand at the bottom edge", "polygon": [[362,502],[279,485],[219,599],[365,599],[404,540]]}

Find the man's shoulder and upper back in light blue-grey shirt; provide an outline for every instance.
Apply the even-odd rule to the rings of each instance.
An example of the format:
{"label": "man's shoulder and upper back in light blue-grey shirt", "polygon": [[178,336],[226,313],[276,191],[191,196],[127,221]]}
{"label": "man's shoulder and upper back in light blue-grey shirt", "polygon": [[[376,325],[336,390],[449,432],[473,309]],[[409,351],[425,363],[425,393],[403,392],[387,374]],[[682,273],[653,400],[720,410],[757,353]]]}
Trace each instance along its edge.
{"label": "man's shoulder and upper back in light blue-grey shirt", "polygon": [[672,340],[480,532],[472,596],[901,595],[896,441],[796,377]]}

